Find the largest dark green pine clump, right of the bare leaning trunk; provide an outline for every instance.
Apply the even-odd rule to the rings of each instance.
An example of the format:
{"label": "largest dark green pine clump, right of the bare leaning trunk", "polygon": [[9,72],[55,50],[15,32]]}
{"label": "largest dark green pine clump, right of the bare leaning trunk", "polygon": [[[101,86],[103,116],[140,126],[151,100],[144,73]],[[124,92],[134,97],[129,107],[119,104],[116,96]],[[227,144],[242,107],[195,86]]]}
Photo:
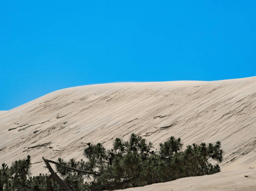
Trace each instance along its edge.
{"label": "largest dark green pine clump, right of the bare leaning trunk", "polygon": [[[220,142],[214,145],[188,145],[182,150],[181,139],[170,137],[159,145],[159,150],[152,149],[152,145],[135,134],[131,134],[128,141],[116,138],[112,149],[105,149],[101,143],[87,143],[83,153],[87,160],[75,168],[98,172],[100,176],[84,175],[89,180],[84,184],[84,189],[123,189],[220,171],[219,165],[213,166],[208,162],[209,159],[222,161],[223,151]],[[64,163],[62,159],[59,159],[59,162],[71,166],[70,162]],[[64,176],[83,176],[77,176],[76,173],[62,167],[56,168],[60,173],[65,172],[65,175],[62,174]],[[69,183],[68,185],[71,187]]]}

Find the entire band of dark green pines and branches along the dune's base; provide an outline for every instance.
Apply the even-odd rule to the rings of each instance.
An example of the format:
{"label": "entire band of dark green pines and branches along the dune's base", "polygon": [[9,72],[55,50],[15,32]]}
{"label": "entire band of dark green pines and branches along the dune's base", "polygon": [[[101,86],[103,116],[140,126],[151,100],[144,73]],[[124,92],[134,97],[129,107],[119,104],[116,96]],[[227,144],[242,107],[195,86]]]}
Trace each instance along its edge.
{"label": "entire band of dark green pines and branches along the dune's base", "polygon": [[[85,160],[43,160],[50,174],[30,175],[30,156],[0,169],[0,191],[18,190],[115,190],[166,182],[187,176],[200,176],[220,171],[219,165],[208,160],[222,161],[221,143],[201,143],[182,150],[181,139],[170,137],[153,149],[151,142],[130,135],[128,141],[116,138],[112,149],[101,143],[87,143]],[[57,173],[50,165],[55,164]]]}

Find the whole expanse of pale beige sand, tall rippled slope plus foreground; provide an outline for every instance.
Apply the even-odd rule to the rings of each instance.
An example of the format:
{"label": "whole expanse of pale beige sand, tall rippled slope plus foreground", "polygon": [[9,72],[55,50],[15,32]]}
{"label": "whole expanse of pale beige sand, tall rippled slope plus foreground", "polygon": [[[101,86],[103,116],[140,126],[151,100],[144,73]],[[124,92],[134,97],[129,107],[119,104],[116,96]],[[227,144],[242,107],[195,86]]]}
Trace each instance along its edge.
{"label": "whole expanse of pale beige sand, tall rippled slope plus foreground", "polygon": [[[180,181],[186,181],[194,190],[206,190],[207,181],[210,185],[214,183],[210,179],[216,179],[226,181],[223,190],[225,184],[233,183],[239,189],[239,185],[242,189],[247,184],[246,188],[255,189],[247,183],[254,181],[256,185],[255,170],[249,169],[256,167],[255,122],[256,77],[67,88],[0,112],[0,162],[10,164],[31,155],[35,163],[32,173],[36,175],[46,172],[41,157],[84,158],[86,142],[103,142],[110,148],[115,137],[126,140],[134,132],[157,148],[160,142],[175,136],[184,145],[221,141],[225,151],[222,172],[157,187],[192,190],[178,187]],[[251,178],[244,177],[244,173]]]}

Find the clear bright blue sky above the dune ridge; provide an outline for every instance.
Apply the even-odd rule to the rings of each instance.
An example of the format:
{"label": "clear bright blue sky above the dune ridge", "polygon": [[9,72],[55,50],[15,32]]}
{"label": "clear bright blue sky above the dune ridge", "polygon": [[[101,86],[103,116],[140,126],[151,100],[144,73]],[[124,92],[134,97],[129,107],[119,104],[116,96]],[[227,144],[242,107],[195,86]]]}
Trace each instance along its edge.
{"label": "clear bright blue sky above the dune ridge", "polygon": [[0,110],[87,84],[256,75],[256,1],[1,1]]}

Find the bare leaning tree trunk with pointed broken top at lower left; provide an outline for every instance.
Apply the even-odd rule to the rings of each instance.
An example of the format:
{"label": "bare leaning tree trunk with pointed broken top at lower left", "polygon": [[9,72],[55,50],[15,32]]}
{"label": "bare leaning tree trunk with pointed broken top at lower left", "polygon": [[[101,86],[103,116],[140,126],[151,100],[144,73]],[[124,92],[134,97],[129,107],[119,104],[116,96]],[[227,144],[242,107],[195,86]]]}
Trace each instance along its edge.
{"label": "bare leaning tree trunk with pointed broken top at lower left", "polygon": [[52,190],[50,179],[54,179],[60,185],[60,187],[63,189],[63,191],[71,191],[71,189],[68,188],[68,186],[63,182],[63,180],[61,180],[61,178],[59,178],[59,176],[56,174],[56,172],[54,172],[51,165],[49,164],[49,162],[46,159],[44,159],[44,157],[43,157],[43,160],[44,160],[44,163],[46,164],[46,167],[48,168],[48,170],[51,173],[51,175],[46,180],[46,182],[47,182],[47,191]]}

